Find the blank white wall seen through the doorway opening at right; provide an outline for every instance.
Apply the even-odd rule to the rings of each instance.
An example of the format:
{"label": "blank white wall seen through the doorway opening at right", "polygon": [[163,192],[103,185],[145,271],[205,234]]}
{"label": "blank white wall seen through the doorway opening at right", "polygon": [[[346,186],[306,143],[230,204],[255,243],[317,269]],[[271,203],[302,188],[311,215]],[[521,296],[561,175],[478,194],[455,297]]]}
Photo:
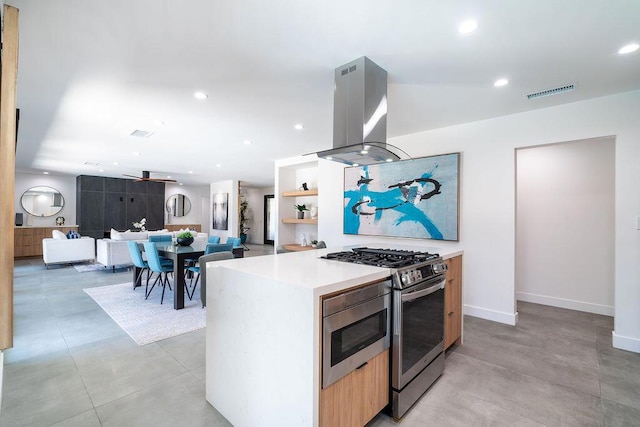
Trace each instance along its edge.
{"label": "blank white wall seen through the doorway opening at right", "polygon": [[615,141],[516,152],[516,297],[613,316]]}

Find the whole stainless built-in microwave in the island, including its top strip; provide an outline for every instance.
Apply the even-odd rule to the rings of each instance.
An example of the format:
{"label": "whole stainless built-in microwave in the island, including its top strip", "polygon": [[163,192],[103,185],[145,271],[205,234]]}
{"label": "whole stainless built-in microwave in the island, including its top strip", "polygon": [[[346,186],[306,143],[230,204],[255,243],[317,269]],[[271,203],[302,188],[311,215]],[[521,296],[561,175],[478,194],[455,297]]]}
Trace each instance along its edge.
{"label": "whole stainless built-in microwave in the island, including its top strip", "polygon": [[377,282],[322,302],[322,388],[390,345],[391,282]]}

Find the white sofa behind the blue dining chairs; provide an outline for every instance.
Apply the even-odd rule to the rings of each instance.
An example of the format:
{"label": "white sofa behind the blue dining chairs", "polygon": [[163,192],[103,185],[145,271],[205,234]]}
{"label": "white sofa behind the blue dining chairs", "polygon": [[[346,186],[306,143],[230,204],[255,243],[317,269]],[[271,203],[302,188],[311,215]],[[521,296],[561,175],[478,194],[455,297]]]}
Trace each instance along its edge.
{"label": "white sofa behind the blue dining chairs", "polygon": [[[132,265],[131,256],[127,242],[145,242],[150,235],[170,235],[176,237],[179,231],[142,231],[142,232],[118,232],[112,230],[110,239],[98,239],[96,241],[96,262],[111,267],[115,271],[116,266]],[[209,239],[207,233],[197,233],[195,242],[206,242]]]}

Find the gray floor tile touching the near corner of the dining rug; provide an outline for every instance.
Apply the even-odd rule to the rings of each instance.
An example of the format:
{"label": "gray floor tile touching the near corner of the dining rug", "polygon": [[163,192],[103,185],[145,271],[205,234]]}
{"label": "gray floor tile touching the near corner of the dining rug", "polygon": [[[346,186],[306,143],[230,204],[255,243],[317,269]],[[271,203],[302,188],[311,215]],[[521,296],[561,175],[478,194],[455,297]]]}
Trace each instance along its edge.
{"label": "gray floor tile touching the near corner of the dining rug", "polygon": [[156,343],[115,337],[70,349],[94,405],[99,406],[186,372]]}

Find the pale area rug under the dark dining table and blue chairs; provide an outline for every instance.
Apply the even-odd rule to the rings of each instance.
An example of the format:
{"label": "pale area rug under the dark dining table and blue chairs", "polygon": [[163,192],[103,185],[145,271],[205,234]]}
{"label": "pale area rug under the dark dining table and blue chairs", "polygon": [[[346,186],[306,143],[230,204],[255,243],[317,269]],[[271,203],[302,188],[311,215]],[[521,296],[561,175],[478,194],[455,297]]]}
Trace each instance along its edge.
{"label": "pale area rug under the dark dining table and blue chairs", "polygon": [[[173,285],[171,286],[173,289]],[[185,295],[184,308],[173,309],[173,291],[166,289],[160,304],[162,287],[156,286],[144,299],[144,286],[135,291],[131,282],[83,289],[138,344],[175,337],[206,325],[206,310],[200,303],[200,289],[193,300]]]}

